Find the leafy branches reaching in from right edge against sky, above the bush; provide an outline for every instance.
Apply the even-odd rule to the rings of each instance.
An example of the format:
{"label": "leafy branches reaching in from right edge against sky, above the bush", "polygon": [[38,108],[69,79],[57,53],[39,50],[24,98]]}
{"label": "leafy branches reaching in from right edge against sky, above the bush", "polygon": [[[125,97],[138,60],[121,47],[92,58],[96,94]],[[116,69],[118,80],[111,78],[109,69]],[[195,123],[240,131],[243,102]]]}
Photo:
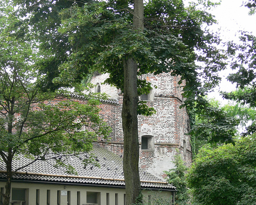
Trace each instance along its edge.
{"label": "leafy branches reaching in from right edge against sky, above the bush", "polygon": [[[256,107],[256,38],[247,32],[242,32],[240,44],[229,42],[228,51],[232,56],[231,68],[237,72],[230,74],[228,80],[236,83],[238,90],[230,93],[223,92],[226,99],[235,100],[242,105]],[[243,135],[250,135],[256,131],[256,122],[246,128]]]}

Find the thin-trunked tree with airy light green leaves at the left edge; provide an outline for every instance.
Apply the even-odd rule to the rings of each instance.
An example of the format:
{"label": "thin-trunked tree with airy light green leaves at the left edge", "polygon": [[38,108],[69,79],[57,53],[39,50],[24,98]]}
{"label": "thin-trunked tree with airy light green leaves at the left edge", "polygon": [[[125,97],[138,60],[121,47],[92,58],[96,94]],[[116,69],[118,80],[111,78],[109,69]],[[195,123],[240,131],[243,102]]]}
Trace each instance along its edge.
{"label": "thin-trunked tree with airy light green leaves at the left edge", "polygon": [[[41,58],[34,34],[11,2],[0,4],[0,157],[6,164],[7,205],[11,178],[18,170],[36,160],[55,159],[56,165],[72,172],[65,156],[90,151],[92,141],[107,136],[110,130],[98,116],[98,99],[104,96],[80,94],[87,100],[81,104],[72,100],[67,90],[42,91],[38,85],[45,75],[40,75],[34,66]],[[12,160],[18,155],[30,162],[12,167]],[[84,163],[88,160],[91,159],[83,159]]]}

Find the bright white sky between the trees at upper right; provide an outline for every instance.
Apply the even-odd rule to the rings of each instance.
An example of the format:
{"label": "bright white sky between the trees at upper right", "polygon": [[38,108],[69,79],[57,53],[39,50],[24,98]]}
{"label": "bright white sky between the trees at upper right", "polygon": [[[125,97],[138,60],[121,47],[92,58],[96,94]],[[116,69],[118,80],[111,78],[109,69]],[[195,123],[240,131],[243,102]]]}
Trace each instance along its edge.
{"label": "bright white sky between the trees at upper right", "polygon": [[[249,9],[242,6],[242,3],[243,0],[222,0],[219,6],[210,10],[210,13],[218,21],[218,25],[213,26],[212,30],[219,30],[223,40],[234,40],[234,42],[237,42],[239,30],[252,32],[252,34],[256,35],[256,14],[249,16]],[[223,101],[218,95],[218,90],[235,90],[235,86],[225,79],[229,72],[232,72],[232,70],[220,73],[223,79],[220,83],[220,88],[216,88],[216,92],[210,93],[210,98],[215,97],[217,100]]]}

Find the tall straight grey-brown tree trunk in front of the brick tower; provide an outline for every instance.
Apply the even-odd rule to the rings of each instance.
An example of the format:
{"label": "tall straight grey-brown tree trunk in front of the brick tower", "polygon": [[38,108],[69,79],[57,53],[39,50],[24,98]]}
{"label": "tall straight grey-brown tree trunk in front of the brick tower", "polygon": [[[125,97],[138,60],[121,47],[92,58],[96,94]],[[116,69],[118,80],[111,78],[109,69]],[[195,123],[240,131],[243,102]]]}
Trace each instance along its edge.
{"label": "tall straight grey-brown tree trunk in front of the brick tower", "polygon": [[[143,31],[143,0],[134,0],[133,30]],[[138,63],[129,56],[124,59],[124,98],[122,107],[122,127],[124,132],[124,181],[126,204],[136,203],[141,187],[139,175],[138,140]]]}

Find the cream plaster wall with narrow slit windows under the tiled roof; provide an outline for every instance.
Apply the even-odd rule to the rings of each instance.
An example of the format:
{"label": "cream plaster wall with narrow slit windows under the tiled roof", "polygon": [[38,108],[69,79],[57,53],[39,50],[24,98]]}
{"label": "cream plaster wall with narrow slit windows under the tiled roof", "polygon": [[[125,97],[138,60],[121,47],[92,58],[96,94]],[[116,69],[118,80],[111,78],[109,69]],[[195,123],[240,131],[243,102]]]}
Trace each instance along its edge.
{"label": "cream plaster wall with narrow slit windows under the tiled roof", "polygon": [[[0,187],[4,187],[5,183],[0,182]],[[64,188],[65,186],[65,188]],[[26,205],[36,205],[36,189],[40,189],[40,201],[39,205],[46,205],[46,192],[50,190],[50,205],[57,205],[57,191],[70,191],[70,205],[77,205],[77,191],[80,191],[80,205],[87,205],[86,203],[86,191],[93,191],[100,193],[100,203],[98,205],[106,205],[106,195],[109,193],[110,205],[115,204],[115,196],[118,194],[118,205],[124,205],[124,194],[125,189],[122,188],[104,188],[104,187],[86,187],[79,185],[54,185],[51,183],[48,184],[39,184],[39,183],[15,183],[12,182],[12,187],[14,188],[23,188],[28,189],[28,201]],[[148,195],[154,197],[154,195],[160,195],[162,197],[171,197],[171,191],[142,191],[145,199],[148,199]],[[11,196],[12,197],[12,196]],[[12,199],[12,198],[11,198]],[[10,203],[10,205],[12,205]],[[67,196],[61,196],[60,205],[67,205]]]}

